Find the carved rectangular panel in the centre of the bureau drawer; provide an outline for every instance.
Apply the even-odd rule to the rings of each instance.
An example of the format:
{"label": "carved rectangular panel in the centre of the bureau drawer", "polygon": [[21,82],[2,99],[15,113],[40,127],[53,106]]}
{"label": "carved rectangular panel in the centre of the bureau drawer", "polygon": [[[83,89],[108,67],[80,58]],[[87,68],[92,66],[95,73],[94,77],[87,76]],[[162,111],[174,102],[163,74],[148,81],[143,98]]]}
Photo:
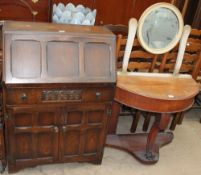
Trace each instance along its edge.
{"label": "carved rectangular panel in the centre of the bureau drawer", "polygon": [[49,90],[42,91],[42,101],[80,101],[82,100],[82,90]]}

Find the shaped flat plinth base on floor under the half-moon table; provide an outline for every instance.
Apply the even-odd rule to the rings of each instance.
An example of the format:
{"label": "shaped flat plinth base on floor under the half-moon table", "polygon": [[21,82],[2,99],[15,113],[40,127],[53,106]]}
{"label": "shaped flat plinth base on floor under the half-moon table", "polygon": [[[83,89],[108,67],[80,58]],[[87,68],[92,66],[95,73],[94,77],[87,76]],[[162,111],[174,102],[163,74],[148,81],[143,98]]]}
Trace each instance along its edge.
{"label": "shaped flat plinth base on floor under the half-moon table", "polygon": [[150,151],[146,151],[147,137],[147,133],[108,135],[106,146],[127,151],[144,164],[154,164],[159,160],[160,147],[170,143],[173,134],[170,132],[158,133]]}

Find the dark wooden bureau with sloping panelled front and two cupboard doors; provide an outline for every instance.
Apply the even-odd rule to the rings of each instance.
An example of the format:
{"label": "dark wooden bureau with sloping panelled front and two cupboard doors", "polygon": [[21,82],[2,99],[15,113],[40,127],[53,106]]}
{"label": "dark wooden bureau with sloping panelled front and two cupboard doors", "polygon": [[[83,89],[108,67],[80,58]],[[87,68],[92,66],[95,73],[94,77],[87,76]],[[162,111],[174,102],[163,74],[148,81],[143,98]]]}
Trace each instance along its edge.
{"label": "dark wooden bureau with sloping panelled front and two cupboard doors", "polygon": [[46,163],[100,164],[115,82],[115,36],[107,29],[6,21],[3,165],[12,173]]}

